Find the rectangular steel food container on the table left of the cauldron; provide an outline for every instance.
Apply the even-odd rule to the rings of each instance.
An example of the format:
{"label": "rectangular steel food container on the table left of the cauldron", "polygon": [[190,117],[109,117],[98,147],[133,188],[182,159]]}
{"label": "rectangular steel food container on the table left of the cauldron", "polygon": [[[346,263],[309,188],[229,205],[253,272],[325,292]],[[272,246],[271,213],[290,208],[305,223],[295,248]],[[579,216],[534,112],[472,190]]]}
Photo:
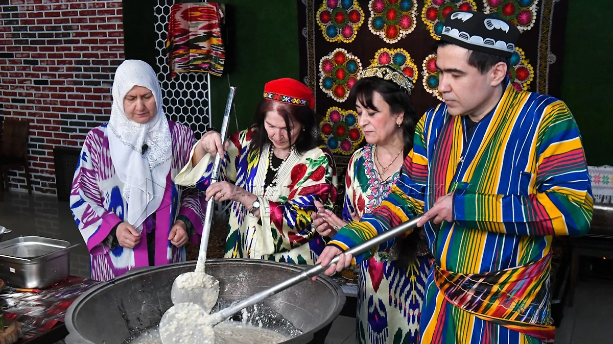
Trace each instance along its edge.
{"label": "rectangular steel food container on the table left of the cauldron", "polygon": [[0,243],[0,279],[16,288],[42,289],[64,280],[70,271],[70,249],[77,245],[40,236]]}

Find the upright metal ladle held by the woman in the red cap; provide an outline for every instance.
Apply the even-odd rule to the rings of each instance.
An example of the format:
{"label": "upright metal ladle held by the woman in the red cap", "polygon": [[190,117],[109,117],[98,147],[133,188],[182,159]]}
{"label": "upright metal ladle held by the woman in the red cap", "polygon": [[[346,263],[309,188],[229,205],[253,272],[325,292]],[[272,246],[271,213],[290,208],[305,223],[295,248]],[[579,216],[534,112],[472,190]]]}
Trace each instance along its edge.
{"label": "upright metal ladle held by the woman in the red cap", "polygon": [[[224,145],[226,140],[228,122],[230,119],[230,109],[232,108],[232,102],[234,101],[234,95],[236,88],[230,86],[230,92],[226,102],[226,110],[224,111],[224,119],[221,124],[221,144]],[[211,171],[211,182],[213,183],[219,180],[219,167],[221,166],[221,156],[217,152],[215,156],[215,163],[213,163],[213,170]],[[204,228],[202,229],[202,239],[200,239],[200,250],[198,252],[198,261],[196,263],[196,270],[194,272],[186,272],[185,274],[178,275],[175,282],[172,283],[172,290],[170,290],[170,299],[175,306],[185,303],[193,303],[200,305],[206,313],[217,303],[219,297],[219,281],[215,277],[205,274],[205,263],[207,261],[207,247],[208,237],[211,231],[211,223],[213,222],[213,204],[215,198],[211,197],[207,202],[207,212],[205,214]],[[166,315],[165,315],[166,316]]]}

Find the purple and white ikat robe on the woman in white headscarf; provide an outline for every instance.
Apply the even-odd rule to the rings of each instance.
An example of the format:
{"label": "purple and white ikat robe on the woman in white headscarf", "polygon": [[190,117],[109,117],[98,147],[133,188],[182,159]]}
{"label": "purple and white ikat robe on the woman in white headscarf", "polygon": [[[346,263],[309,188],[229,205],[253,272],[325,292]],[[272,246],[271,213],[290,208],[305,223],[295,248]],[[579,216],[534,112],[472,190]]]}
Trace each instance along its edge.
{"label": "purple and white ikat robe on the woman in white headscarf", "polygon": [[[197,190],[180,193],[173,182],[173,177],[189,159],[188,147],[196,141],[194,133],[185,125],[168,121],[172,162],[162,203],[143,222],[142,233],[146,235],[141,236],[134,249],[121,246],[111,249],[107,238],[124,221],[129,204],[122,195],[124,184],[115,171],[115,166],[121,163],[111,159],[107,125],[92,129],[86,136],[70,192],[70,209],[91,255],[91,279],[111,280],[129,269],[148,266],[150,261],[156,266],[185,261],[185,247],[175,247],[168,236],[177,217],[190,222],[192,242],[199,242],[202,234],[204,195]],[[154,241],[153,259],[148,254],[151,240]]]}

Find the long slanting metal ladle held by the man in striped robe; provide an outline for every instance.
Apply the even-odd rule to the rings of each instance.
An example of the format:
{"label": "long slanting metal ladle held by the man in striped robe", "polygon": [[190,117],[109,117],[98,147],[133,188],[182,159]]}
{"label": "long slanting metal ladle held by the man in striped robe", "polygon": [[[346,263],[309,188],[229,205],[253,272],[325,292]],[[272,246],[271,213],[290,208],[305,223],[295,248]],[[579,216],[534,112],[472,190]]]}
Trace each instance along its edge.
{"label": "long slanting metal ladle held by the man in striped robe", "polygon": [[[413,230],[417,227],[417,222],[419,222],[420,219],[421,216],[415,217],[405,223],[395,226],[389,231],[371,237],[367,241],[362,242],[362,244],[347,250],[345,254],[351,253],[351,255],[356,256],[360,253],[364,253],[372,247],[381,245],[394,237],[400,236],[409,230]],[[330,264],[338,263],[338,259],[338,256],[334,257]],[[286,290],[291,286],[310,279],[314,275],[326,271],[327,267],[328,266],[317,264],[295,275],[295,277],[291,279],[284,280],[278,285],[262,290],[253,296],[249,296],[237,302],[237,304],[231,305],[211,315],[207,314],[208,312],[205,312],[204,309],[198,307],[196,304],[174,305],[167,310],[159,323],[159,334],[162,344],[214,344],[215,331],[213,331],[213,326],[221,323],[221,321],[226,320],[243,308],[257,304],[257,302],[267,297],[273,296],[280,291]],[[181,314],[179,316],[180,319],[177,319],[177,314]]]}

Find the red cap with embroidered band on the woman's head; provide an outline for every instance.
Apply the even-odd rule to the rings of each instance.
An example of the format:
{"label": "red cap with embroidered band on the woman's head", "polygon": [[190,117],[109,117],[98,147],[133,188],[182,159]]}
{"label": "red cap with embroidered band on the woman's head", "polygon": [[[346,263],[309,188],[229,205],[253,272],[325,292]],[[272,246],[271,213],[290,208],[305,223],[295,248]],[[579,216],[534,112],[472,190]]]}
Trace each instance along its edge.
{"label": "red cap with embroidered band on the woman's head", "polygon": [[307,85],[292,78],[268,81],[264,85],[264,98],[300,107],[315,107],[313,91]]}

